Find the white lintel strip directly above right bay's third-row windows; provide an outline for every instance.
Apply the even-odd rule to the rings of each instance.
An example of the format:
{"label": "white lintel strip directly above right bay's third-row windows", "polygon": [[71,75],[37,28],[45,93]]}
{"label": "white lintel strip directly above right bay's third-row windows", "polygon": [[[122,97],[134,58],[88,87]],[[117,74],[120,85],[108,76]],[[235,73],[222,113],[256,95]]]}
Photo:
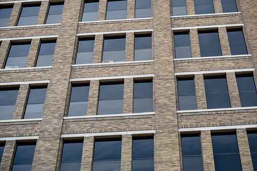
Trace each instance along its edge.
{"label": "white lintel strip directly above right bay's third-row windows", "polygon": [[183,72],[183,73],[174,73],[174,75],[195,75],[195,74],[234,73],[234,72],[246,72],[246,71],[254,71],[254,68],[235,69],[235,70],[214,70],[214,71]]}

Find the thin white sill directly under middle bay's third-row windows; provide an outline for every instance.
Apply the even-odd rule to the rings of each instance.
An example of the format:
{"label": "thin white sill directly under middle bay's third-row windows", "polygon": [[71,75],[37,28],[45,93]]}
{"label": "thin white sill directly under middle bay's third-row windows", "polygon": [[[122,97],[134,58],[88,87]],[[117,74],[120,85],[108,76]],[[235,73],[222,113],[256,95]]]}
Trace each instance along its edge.
{"label": "thin white sill directly under middle bay's third-row windows", "polygon": [[113,115],[94,115],[94,116],[78,116],[78,117],[64,117],[64,120],[70,119],[84,119],[84,118],[106,118],[106,117],[129,117],[129,116],[141,116],[141,115],[155,115],[155,112],[144,112],[144,113],[122,113]]}

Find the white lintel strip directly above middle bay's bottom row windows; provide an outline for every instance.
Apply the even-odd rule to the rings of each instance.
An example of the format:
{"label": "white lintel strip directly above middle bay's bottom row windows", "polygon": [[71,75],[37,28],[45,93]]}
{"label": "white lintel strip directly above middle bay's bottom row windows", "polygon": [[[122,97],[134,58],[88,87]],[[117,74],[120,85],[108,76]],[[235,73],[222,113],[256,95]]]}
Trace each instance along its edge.
{"label": "white lintel strip directly above middle bay's bottom row windows", "polygon": [[154,134],[156,130],[146,131],[123,131],[123,132],[103,132],[103,133],[85,133],[85,134],[62,134],[61,138],[68,137],[93,137],[93,136],[110,136],[110,135],[131,135],[131,134]]}

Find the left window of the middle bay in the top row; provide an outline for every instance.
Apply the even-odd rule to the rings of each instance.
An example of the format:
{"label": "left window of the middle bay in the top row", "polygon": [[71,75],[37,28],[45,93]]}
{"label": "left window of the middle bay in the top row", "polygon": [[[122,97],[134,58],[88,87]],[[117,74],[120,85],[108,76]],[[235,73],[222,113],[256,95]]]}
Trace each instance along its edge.
{"label": "left window of the middle bay in the top row", "polygon": [[99,1],[85,1],[81,21],[96,21]]}

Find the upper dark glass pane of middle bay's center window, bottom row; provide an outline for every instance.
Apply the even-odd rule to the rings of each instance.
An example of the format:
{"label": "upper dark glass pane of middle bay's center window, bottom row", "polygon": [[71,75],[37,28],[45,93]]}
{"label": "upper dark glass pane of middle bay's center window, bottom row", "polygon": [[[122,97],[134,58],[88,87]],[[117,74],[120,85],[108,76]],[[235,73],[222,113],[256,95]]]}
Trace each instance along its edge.
{"label": "upper dark glass pane of middle bay's center window, bottom row", "polygon": [[96,141],[93,160],[121,159],[121,141]]}

